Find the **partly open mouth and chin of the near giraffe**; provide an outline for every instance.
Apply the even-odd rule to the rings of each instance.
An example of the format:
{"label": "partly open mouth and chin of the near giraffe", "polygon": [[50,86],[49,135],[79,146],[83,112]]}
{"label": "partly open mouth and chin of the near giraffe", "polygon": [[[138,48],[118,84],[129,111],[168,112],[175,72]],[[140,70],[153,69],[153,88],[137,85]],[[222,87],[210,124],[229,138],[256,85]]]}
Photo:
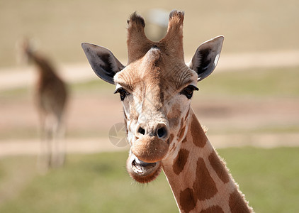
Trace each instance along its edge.
{"label": "partly open mouth and chin of the near giraffe", "polygon": [[151,182],[161,172],[161,163],[146,163],[132,154],[127,160],[127,170],[130,176],[137,182]]}

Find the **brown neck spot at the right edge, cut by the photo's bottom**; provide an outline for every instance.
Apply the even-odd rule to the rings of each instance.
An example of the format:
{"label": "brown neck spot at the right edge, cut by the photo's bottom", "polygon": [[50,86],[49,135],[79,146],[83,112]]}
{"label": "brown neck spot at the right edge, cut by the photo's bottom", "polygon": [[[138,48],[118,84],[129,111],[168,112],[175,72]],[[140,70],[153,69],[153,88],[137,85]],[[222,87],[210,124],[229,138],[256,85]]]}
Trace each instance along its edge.
{"label": "brown neck spot at the right edge, cut by the photo's bottom", "polygon": [[232,194],[230,194],[229,205],[232,213],[251,212],[247,203],[244,201],[244,197],[238,190],[235,190]]}

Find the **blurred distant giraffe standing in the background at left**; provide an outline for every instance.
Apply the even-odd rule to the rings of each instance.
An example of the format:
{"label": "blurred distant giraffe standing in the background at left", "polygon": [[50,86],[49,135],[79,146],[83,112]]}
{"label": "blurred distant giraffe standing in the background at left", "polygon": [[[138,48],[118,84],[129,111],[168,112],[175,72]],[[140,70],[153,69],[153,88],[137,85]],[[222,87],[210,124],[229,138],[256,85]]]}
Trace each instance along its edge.
{"label": "blurred distant giraffe standing in the background at left", "polygon": [[65,144],[64,113],[67,105],[67,85],[57,75],[50,60],[33,50],[30,40],[23,39],[18,44],[21,53],[32,61],[38,70],[35,85],[35,105],[40,119],[41,152],[38,167],[42,170],[64,164]]}

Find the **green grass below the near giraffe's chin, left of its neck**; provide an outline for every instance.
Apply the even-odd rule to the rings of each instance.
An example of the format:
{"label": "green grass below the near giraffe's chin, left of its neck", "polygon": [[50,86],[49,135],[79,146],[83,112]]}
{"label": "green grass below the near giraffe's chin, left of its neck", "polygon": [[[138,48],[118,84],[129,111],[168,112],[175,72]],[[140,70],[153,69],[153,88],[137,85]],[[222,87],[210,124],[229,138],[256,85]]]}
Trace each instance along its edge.
{"label": "green grass below the near giraffe's chin, left of its neck", "polygon": [[127,155],[73,155],[66,168],[36,176],[0,212],[175,212],[165,178],[145,186],[133,183],[124,168]]}

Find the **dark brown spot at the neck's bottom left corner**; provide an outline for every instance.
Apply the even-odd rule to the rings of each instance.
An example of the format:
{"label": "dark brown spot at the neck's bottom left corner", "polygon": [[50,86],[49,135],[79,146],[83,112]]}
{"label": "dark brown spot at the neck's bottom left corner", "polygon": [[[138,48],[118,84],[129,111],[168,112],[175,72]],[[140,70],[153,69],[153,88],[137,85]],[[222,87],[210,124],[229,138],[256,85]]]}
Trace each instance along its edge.
{"label": "dark brown spot at the neck's bottom left corner", "polygon": [[196,197],[193,197],[193,190],[191,188],[181,191],[179,205],[183,212],[190,212],[196,207]]}

